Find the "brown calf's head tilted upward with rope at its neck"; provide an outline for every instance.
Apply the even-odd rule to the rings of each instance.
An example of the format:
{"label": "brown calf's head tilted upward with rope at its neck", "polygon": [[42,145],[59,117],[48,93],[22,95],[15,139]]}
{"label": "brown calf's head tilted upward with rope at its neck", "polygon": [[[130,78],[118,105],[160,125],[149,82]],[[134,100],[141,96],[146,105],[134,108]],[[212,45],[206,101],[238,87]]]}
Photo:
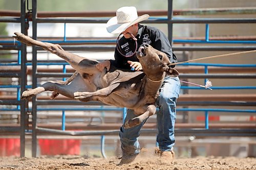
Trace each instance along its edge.
{"label": "brown calf's head tilted upward with rope at its neck", "polygon": [[171,62],[167,55],[153,48],[151,45],[142,44],[137,52],[144,73],[148,76],[159,77],[166,72],[170,77],[179,76],[179,72],[170,67]]}

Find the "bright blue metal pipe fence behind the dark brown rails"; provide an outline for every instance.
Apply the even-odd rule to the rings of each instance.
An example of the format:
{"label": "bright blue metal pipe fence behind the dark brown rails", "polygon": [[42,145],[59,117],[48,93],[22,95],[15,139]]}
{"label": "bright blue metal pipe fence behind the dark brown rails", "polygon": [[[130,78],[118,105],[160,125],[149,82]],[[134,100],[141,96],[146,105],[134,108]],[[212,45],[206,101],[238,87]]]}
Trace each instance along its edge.
{"label": "bright blue metal pipe fence behind the dark brown rails", "polygon": [[[205,35],[205,39],[206,41],[209,38],[209,27],[208,24],[206,24],[206,35]],[[65,25],[65,36],[64,36],[64,41],[65,42],[69,42],[66,40],[66,25]],[[63,41],[60,41],[63,42]],[[77,42],[77,41],[76,41]],[[0,66],[2,65],[20,65],[20,51],[18,51],[18,60],[17,63],[1,63]],[[32,63],[27,63],[26,65],[32,65]],[[66,73],[66,65],[69,65],[66,62],[61,62],[61,63],[37,63],[37,65],[62,65],[63,69],[62,72]],[[185,63],[185,64],[180,64],[183,66],[204,66],[204,73],[208,74],[208,66],[218,66],[218,67],[256,67],[256,64],[210,64],[210,63]],[[66,78],[63,78],[63,81],[65,81]],[[207,79],[204,80],[204,82],[206,83]],[[31,86],[26,86],[27,88],[31,88]],[[20,101],[20,85],[0,85],[0,88],[17,88],[17,100]],[[188,86],[181,86],[182,89],[203,89],[201,87],[188,87]],[[228,86],[228,87],[211,87],[212,89],[256,89],[256,86]],[[17,106],[17,109],[0,109],[2,111],[19,111],[20,108],[19,106]],[[51,109],[41,109],[38,108],[38,111],[56,111],[56,110],[60,110],[62,111],[62,130],[65,130],[65,121],[66,121],[66,116],[65,116],[65,111],[67,110],[120,110],[120,109],[104,109],[104,108],[91,108],[91,109],[70,109],[70,108],[66,108],[66,109],[59,109],[59,108],[51,108]],[[121,109],[122,110],[122,109]],[[253,112],[255,113],[255,110],[223,110],[223,109],[177,109],[177,111],[204,111],[205,112],[205,129],[208,129],[208,112],[209,111],[224,111],[224,112]],[[123,120],[126,116],[126,108],[123,108]],[[103,142],[104,137],[101,137],[101,142]],[[102,151],[102,155],[104,156],[104,152]]]}

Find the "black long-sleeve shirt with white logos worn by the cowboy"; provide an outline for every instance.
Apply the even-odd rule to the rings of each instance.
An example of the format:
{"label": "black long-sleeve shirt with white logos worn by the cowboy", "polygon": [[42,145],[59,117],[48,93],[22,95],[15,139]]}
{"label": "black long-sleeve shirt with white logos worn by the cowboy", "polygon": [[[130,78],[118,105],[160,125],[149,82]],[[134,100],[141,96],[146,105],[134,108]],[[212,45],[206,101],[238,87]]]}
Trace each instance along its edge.
{"label": "black long-sleeve shirt with white logos worn by the cowboy", "polygon": [[[170,42],[168,38],[164,35],[163,32],[161,32],[159,29],[155,27],[149,27],[149,26],[143,26],[138,24],[138,33],[136,35],[137,38],[137,49],[138,51],[139,47],[143,43],[150,44],[154,48],[156,48],[158,51],[164,52],[170,62],[176,63],[177,57],[173,53],[172,46],[170,46]],[[119,40],[119,50],[123,55],[129,56],[135,51],[135,41],[132,38],[125,38],[124,36],[120,38]],[[117,68],[126,68],[130,69],[130,64],[127,63],[127,61],[137,61],[139,62],[139,59],[136,57],[136,54],[134,54],[131,57],[124,57],[117,51],[117,46],[115,49],[115,60],[110,60],[111,65],[117,67]],[[174,65],[175,66],[175,65]]]}

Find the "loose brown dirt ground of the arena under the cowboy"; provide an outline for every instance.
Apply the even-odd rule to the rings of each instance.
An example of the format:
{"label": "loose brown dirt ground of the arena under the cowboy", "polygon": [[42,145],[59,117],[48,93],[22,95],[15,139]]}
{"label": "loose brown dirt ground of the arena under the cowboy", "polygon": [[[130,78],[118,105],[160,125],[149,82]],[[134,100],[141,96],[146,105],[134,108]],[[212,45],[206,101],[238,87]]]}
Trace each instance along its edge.
{"label": "loose brown dirt ground of the arena under the cowboy", "polygon": [[38,158],[0,157],[0,169],[256,169],[256,158],[196,157],[160,160],[156,155],[144,154],[135,162],[118,166],[119,159],[112,157],[53,156]]}

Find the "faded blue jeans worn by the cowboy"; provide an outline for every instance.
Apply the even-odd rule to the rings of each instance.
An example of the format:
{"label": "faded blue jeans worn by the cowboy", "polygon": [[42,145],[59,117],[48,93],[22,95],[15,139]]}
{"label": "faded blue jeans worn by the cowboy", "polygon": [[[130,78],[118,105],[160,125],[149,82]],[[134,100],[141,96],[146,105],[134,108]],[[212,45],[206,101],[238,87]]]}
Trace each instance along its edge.
{"label": "faded blue jeans worn by the cowboy", "polygon": [[[176,102],[180,93],[179,78],[165,77],[159,92],[160,94],[156,101],[156,106],[159,107],[159,112],[157,113],[157,142],[161,151],[170,151],[175,143],[174,124],[176,120]],[[138,115],[135,115],[133,110],[128,109],[125,121],[136,116]],[[120,128],[119,136],[123,154],[139,154],[139,131],[145,122],[146,120],[140,125],[129,129]]]}

